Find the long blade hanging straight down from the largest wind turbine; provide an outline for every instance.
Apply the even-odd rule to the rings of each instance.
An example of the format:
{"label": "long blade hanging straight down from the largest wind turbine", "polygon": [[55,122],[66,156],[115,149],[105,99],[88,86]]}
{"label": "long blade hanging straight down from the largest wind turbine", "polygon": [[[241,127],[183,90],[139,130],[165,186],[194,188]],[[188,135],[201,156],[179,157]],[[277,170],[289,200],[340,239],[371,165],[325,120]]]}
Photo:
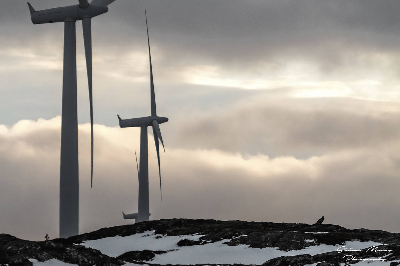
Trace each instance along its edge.
{"label": "long blade hanging straight down from the largest wind turbine", "polygon": [[93,185],[93,95],[92,95],[92,26],[89,17],[82,18],[83,41],[85,45],[86,71],[88,72],[89,108],[90,108],[90,187]]}

